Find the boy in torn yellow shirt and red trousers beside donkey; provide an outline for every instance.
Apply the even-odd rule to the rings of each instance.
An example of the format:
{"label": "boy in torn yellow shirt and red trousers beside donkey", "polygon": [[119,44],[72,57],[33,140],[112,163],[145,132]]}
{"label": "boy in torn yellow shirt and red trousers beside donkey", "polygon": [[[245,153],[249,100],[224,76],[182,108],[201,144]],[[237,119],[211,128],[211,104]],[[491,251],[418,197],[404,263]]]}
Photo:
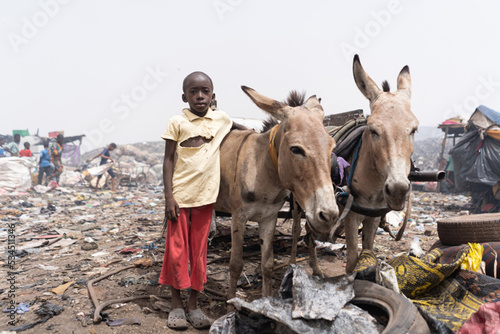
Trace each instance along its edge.
{"label": "boy in torn yellow shirt and red trousers beside donkey", "polygon": [[[186,329],[189,321],[202,329],[211,324],[197,307],[197,297],[207,281],[207,237],[220,181],[219,147],[231,128],[246,128],[233,123],[224,112],[210,109],[215,94],[212,79],[205,73],[189,74],[182,89],[182,101],[189,109],[171,118],[161,136],[165,140],[163,182],[168,228],[159,283],[170,285],[172,293],[168,327]],[[186,313],[180,290],[187,288],[191,293]]]}

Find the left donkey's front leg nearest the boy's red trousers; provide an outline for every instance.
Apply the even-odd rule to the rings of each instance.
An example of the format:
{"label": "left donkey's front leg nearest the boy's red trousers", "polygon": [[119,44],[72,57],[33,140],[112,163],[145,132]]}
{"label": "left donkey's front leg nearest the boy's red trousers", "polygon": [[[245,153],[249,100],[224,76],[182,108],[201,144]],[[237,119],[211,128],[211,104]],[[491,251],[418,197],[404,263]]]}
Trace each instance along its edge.
{"label": "left donkey's front leg nearest the boy's red trousers", "polygon": [[236,287],[241,271],[243,270],[243,236],[246,220],[238,219],[238,214],[233,214],[231,220],[231,259],[229,260],[229,288],[227,299],[236,297]]}

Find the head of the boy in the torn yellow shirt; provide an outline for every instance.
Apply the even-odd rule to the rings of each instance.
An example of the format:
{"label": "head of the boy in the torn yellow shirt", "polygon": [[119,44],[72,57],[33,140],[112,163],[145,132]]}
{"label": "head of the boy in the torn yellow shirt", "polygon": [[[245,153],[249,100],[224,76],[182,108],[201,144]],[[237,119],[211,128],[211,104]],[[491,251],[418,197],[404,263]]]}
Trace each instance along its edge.
{"label": "head of the boy in the torn yellow shirt", "polygon": [[189,78],[184,94],[182,94],[182,101],[189,103],[193,114],[205,116],[213,99],[215,99],[215,94],[209,78],[201,74]]}

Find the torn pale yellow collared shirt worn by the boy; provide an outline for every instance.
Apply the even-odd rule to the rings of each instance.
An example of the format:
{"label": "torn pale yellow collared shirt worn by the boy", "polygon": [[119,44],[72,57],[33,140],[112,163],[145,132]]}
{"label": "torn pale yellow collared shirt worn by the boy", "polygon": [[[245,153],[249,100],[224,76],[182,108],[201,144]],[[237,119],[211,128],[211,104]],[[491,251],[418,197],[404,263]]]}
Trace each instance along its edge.
{"label": "torn pale yellow collared shirt worn by the boy", "polygon": [[[221,110],[209,109],[204,117],[183,109],[184,115],[170,119],[163,139],[177,142],[177,161],[174,166],[172,187],[174,199],[180,208],[215,203],[219,194],[219,148],[233,125]],[[180,144],[193,137],[213,138],[200,147],[182,147]]]}

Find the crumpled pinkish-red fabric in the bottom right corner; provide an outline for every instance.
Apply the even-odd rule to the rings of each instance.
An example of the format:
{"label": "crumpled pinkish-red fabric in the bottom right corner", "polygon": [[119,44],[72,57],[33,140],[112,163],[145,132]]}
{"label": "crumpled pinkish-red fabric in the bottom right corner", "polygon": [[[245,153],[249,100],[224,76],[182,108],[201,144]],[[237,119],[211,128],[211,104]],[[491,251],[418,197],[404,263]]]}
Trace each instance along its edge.
{"label": "crumpled pinkish-red fabric in the bottom right corner", "polygon": [[467,320],[460,334],[497,333],[500,331],[500,302],[484,304]]}

